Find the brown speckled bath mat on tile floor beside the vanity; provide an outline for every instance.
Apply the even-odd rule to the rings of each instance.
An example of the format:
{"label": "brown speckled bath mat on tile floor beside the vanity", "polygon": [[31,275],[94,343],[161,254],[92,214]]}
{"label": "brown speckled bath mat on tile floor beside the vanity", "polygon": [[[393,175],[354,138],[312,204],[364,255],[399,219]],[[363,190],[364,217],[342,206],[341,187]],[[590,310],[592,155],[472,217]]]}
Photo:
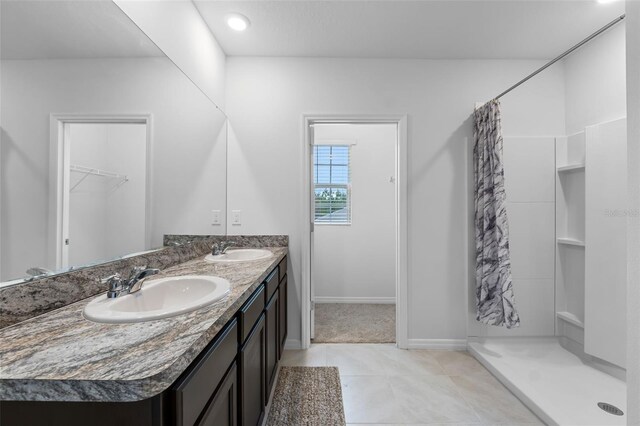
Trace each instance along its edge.
{"label": "brown speckled bath mat on tile floor beside the vanity", "polygon": [[343,426],[344,405],[337,367],[282,367],[269,426]]}

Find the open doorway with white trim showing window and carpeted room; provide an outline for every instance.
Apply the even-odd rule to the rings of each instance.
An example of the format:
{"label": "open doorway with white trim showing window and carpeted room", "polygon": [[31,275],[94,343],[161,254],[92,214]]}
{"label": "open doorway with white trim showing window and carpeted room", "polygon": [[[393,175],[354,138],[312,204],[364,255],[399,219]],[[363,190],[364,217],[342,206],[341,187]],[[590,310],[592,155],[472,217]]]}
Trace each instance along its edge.
{"label": "open doorway with white trim showing window and carpeted room", "polygon": [[305,126],[309,316],[301,346],[406,347],[406,120],[306,117]]}

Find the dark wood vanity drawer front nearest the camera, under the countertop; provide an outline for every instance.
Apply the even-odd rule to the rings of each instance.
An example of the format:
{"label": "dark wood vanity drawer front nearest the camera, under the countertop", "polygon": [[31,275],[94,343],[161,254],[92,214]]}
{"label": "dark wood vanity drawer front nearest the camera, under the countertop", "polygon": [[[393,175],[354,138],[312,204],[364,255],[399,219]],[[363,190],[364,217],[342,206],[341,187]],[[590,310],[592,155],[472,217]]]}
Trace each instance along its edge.
{"label": "dark wood vanity drawer front nearest the camera, under the countertop", "polygon": [[205,349],[200,359],[189,369],[189,373],[178,380],[173,390],[178,426],[195,424],[237,353],[238,322],[234,319],[215,342]]}

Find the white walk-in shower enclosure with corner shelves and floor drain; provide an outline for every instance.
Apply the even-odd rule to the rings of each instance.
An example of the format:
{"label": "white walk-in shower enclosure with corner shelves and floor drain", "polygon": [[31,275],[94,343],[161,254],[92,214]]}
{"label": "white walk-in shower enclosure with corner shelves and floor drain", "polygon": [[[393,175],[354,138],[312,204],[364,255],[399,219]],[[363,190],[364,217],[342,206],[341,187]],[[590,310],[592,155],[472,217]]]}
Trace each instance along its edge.
{"label": "white walk-in shower enclosure with corner shelves and floor drain", "polygon": [[[531,93],[503,100],[520,327],[476,322],[470,277],[469,351],[547,424],[626,424],[625,43],[624,25],[613,28],[622,19],[527,77],[557,62],[563,99],[545,112],[563,114],[564,132],[516,129],[509,101]],[[542,117],[528,118],[545,128]]]}

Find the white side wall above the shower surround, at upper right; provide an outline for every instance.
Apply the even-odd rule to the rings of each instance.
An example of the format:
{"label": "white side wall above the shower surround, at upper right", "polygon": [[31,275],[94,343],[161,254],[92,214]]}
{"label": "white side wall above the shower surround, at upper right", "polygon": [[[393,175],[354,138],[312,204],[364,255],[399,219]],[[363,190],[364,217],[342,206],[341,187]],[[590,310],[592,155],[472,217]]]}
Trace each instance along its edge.
{"label": "white side wall above the shower surround, at upper right", "polygon": [[626,115],[625,23],[566,59],[566,134]]}

